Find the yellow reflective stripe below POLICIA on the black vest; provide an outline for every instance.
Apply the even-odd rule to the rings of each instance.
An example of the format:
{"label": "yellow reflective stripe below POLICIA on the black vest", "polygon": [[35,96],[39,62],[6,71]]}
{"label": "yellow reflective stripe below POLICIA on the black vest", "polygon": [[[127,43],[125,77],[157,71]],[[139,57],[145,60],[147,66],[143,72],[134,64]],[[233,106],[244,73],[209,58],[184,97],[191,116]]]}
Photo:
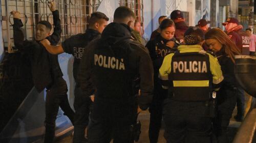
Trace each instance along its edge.
{"label": "yellow reflective stripe below POLICIA on the black vest", "polygon": [[174,80],[174,87],[209,87],[209,80]]}

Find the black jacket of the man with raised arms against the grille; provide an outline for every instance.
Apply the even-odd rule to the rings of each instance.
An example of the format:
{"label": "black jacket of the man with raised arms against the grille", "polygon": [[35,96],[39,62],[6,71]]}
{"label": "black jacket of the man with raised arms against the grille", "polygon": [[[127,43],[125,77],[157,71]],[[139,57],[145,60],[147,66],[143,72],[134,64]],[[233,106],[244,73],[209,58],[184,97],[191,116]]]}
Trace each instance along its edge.
{"label": "black jacket of the man with raised arms against the grille", "polygon": [[[60,40],[61,25],[59,12],[53,12],[54,32],[47,39],[52,45],[56,45]],[[58,63],[58,56],[50,54],[39,41],[24,40],[21,30],[23,23],[20,19],[14,18],[13,38],[14,45],[20,51],[28,54],[31,66],[34,86],[38,92],[45,88],[50,88],[58,77],[62,77],[62,72]]]}

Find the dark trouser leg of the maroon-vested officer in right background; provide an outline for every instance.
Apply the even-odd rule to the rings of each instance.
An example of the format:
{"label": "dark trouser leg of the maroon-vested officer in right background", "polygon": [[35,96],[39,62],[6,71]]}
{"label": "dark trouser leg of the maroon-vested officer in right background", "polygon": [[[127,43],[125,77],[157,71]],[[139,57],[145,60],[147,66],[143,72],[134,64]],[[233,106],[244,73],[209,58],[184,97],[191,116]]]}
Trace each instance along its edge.
{"label": "dark trouser leg of the maroon-vested officer in right background", "polygon": [[243,118],[244,117],[244,112],[245,112],[245,97],[244,97],[244,90],[242,89],[242,87],[238,86],[237,88],[237,109],[238,109],[238,113],[237,116],[239,118]]}

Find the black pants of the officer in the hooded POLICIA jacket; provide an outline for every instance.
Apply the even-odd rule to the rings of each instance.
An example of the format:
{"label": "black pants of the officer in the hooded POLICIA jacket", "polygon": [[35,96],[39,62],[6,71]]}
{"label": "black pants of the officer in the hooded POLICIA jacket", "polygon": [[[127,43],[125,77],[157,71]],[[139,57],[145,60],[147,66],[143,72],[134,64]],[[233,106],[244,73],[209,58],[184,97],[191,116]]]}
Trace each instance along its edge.
{"label": "black pants of the officer in the hooded POLICIA jacket", "polygon": [[137,103],[130,101],[111,101],[95,97],[88,126],[90,143],[133,142],[131,125],[137,116]]}

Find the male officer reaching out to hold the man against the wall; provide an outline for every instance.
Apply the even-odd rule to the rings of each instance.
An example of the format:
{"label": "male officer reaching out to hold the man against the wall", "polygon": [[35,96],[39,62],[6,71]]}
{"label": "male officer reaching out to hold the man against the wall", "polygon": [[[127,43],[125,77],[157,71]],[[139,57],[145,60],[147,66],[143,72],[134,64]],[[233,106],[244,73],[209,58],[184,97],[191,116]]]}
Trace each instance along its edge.
{"label": "male officer reaching out to hold the man against the wall", "polygon": [[[78,34],[63,41],[61,45],[52,46],[50,42],[46,40],[41,43],[52,54],[60,54],[63,52],[70,53],[74,56],[73,75],[76,82],[75,86],[75,118],[74,118],[74,136],[73,143],[86,142],[84,138],[84,129],[89,123],[90,105],[92,103],[89,97],[84,97],[80,91],[80,85],[77,84],[77,71],[82,58],[83,50],[86,49],[90,41],[99,38],[100,34],[108,24],[109,18],[101,12],[94,12],[91,14],[89,21],[89,28],[86,33]],[[93,99],[92,99],[93,100]]]}

